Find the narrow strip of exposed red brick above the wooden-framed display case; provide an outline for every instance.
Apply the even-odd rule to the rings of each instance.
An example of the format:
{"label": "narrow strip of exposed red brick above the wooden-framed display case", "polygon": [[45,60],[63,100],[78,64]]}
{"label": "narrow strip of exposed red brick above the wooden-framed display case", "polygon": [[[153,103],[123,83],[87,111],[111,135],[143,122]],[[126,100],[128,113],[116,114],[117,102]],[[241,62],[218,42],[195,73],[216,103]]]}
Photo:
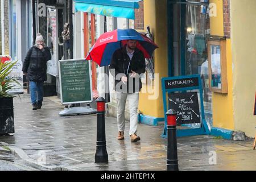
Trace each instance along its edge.
{"label": "narrow strip of exposed red brick above the wooden-framed display case", "polygon": [[230,38],[230,0],[223,0],[224,35]]}

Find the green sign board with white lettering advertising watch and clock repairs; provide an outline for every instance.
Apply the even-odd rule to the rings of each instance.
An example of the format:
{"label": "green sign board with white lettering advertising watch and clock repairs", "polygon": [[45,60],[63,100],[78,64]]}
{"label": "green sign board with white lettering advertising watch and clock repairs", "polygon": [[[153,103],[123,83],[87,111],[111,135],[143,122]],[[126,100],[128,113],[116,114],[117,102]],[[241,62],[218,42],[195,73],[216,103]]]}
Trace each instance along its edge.
{"label": "green sign board with white lettering advertising watch and clock repairs", "polygon": [[92,77],[89,61],[60,60],[60,95],[62,104],[92,102]]}

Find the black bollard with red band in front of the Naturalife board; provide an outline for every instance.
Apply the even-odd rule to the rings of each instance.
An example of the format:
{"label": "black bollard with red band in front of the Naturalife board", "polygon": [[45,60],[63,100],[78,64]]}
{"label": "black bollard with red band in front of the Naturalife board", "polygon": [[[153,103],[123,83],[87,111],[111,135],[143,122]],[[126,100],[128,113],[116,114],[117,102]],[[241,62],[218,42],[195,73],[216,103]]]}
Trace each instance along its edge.
{"label": "black bollard with red band in front of the Naturalife board", "polygon": [[167,115],[167,171],[179,171],[177,160],[177,137],[175,110],[170,109]]}

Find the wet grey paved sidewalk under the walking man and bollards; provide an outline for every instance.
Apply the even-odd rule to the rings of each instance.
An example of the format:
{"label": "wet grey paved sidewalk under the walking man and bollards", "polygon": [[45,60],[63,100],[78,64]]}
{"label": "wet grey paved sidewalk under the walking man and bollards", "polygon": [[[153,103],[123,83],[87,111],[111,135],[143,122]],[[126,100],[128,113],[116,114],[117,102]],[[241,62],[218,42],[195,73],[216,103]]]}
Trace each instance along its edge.
{"label": "wet grey paved sidewalk under the walking man and bollards", "polygon": [[[60,117],[63,109],[56,97],[45,97],[42,109],[35,111],[28,94],[15,97],[15,133],[0,137],[0,142],[5,142],[4,146],[19,159],[8,161],[1,159],[0,154],[0,166],[15,163],[16,159],[18,163],[23,160],[21,164],[28,166],[26,170],[166,170],[167,141],[160,137],[163,125],[139,124],[141,141],[132,143],[129,122],[125,126],[125,140],[119,141],[116,119],[106,117],[109,163],[96,164],[96,114]],[[253,139],[238,142],[207,135],[178,138],[179,169],[256,170],[256,151],[252,146]]]}

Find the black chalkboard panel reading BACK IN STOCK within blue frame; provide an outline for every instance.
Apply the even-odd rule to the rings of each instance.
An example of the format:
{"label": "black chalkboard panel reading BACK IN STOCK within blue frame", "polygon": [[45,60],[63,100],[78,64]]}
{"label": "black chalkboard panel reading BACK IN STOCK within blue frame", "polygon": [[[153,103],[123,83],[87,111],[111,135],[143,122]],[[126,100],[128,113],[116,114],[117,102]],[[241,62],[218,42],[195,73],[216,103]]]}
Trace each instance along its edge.
{"label": "black chalkboard panel reading BACK IN STOCK within blue frame", "polygon": [[177,125],[200,123],[197,92],[169,93],[170,109],[177,112]]}

